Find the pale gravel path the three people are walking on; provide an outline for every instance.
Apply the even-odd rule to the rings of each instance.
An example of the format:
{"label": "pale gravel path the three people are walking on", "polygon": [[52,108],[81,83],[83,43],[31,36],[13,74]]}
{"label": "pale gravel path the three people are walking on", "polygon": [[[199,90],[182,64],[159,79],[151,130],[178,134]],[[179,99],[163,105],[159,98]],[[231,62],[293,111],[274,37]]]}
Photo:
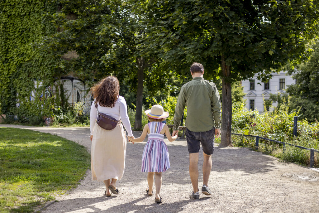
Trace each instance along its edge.
{"label": "pale gravel path the three people are walking on", "polygon": [[[91,150],[88,127],[52,128],[0,125],[56,134]],[[134,132],[138,137],[141,132]],[[146,140],[145,140],[146,141]],[[146,173],[140,171],[145,142],[128,144],[119,195],[104,196],[104,184],[91,180],[88,170],[80,185],[56,199],[42,212],[319,212],[319,172],[248,148],[216,148],[209,186],[211,197],[189,198],[191,183],[185,140],[167,143],[171,169],[163,174],[161,197],[146,195]],[[203,162],[200,150],[199,168]],[[199,184],[203,174],[199,173]],[[155,186],[153,188],[155,190]]]}

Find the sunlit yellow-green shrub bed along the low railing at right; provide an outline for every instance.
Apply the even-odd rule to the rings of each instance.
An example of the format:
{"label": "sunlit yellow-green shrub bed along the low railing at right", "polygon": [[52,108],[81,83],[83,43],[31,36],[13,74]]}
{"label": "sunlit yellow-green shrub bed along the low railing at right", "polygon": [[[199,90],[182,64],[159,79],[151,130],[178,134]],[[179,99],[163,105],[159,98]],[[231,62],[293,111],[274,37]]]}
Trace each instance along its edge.
{"label": "sunlit yellow-green shrub bed along the low railing at right", "polygon": [[[279,107],[271,112],[265,110],[263,114],[259,114],[257,110],[246,110],[243,105],[234,105],[232,118],[233,132],[258,135],[318,150],[319,122],[316,121],[310,124],[307,120],[298,120],[298,136],[295,137],[293,135],[293,117],[297,116],[299,112],[289,109],[289,101],[289,98],[287,100],[283,99]],[[232,141],[235,146],[255,149],[254,137],[233,135]],[[277,153],[282,147],[282,144],[276,142],[259,140],[259,151],[278,156],[285,161],[302,165],[309,164],[310,153],[308,150],[287,146],[286,152],[278,155]],[[317,154],[315,162],[318,162]],[[315,165],[318,166],[318,163],[315,163]]]}

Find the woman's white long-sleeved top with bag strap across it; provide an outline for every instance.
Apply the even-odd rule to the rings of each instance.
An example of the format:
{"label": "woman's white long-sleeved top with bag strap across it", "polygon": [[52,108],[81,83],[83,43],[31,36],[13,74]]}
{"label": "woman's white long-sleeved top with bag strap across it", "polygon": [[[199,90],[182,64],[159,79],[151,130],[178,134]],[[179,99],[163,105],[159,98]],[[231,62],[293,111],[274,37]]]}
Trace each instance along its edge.
{"label": "woman's white long-sleeved top with bag strap across it", "polygon": [[[94,132],[94,125],[95,125],[95,119],[97,118],[97,110],[95,108],[94,102],[91,105],[91,113],[90,113],[90,130],[91,135],[93,135]],[[115,118],[116,120],[122,119],[122,123],[127,131],[128,136],[133,136],[130,119],[127,114],[127,106],[126,101],[124,97],[119,96],[119,98],[116,100],[114,107],[102,107],[98,103],[98,110],[100,113],[105,113],[108,116],[111,116]]]}

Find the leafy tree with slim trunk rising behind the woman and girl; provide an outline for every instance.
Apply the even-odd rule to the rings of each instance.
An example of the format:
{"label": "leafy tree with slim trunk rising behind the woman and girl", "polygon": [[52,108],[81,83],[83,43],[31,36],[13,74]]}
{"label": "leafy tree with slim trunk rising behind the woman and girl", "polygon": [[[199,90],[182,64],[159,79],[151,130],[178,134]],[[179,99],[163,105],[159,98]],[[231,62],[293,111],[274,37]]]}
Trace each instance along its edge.
{"label": "leafy tree with slim trunk rising behind the woman and girl", "polygon": [[[83,80],[99,80],[114,74],[122,91],[135,93],[135,129],[142,128],[143,92],[149,95],[166,87],[170,70],[162,69],[156,51],[145,49],[141,17],[131,13],[130,4],[111,1],[59,1],[59,11],[51,17],[59,32],[48,36],[43,47],[63,57],[69,51],[76,58],[60,61],[59,67],[74,72]],[[143,88],[147,86],[145,91]],[[124,96],[132,98],[130,94]]]}

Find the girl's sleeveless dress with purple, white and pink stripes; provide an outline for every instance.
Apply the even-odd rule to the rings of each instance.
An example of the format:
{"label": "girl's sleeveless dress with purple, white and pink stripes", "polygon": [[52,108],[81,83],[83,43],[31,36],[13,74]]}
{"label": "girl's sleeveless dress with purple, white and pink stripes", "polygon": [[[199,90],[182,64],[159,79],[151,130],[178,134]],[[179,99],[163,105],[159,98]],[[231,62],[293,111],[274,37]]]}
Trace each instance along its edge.
{"label": "girl's sleeveless dress with purple, white and pink stripes", "polygon": [[143,151],[143,172],[164,172],[171,168],[164,134],[160,134],[164,125],[162,122],[155,121],[148,123],[151,133],[147,134],[148,140]]}

